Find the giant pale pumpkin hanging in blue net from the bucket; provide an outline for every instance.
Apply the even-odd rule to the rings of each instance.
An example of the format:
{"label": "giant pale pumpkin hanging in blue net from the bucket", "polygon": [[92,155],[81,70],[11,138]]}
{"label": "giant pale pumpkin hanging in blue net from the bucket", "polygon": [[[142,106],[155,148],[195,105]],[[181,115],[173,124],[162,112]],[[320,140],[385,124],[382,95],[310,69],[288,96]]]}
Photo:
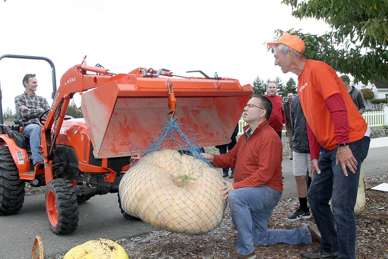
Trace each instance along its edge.
{"label": "giant pale pumpkin hanging in blue net from the bucket", "polygon": [[141,156],[123,176],[123,210],[157,228],[201,234],[222,221],[226,201],[217,170],[200,155],[198,136],[175,120],[165,122],[147,147],[132,145]]}

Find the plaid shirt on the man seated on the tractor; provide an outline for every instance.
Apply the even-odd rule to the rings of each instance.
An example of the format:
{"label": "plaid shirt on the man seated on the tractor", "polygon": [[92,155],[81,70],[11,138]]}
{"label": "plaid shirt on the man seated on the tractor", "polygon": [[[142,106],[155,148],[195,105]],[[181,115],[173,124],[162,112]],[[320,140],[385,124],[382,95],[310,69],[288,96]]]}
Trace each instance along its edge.
{"label": "plaid shirt on the man seated on the tractor", "polygon": [[[28,109],[20,108],[21,105],[25,105]],[[15,108],[17,111],[17,116],[19,120],[25,118],[27,122],[24,125],[31,123],[40,124],[39,116],[42,114],[43,110],[50,108],[49,103],[47,103],[46,98],[42,96],[37,96],[33,93],[32,96],[29,96],[26,92],[15,97]]]}

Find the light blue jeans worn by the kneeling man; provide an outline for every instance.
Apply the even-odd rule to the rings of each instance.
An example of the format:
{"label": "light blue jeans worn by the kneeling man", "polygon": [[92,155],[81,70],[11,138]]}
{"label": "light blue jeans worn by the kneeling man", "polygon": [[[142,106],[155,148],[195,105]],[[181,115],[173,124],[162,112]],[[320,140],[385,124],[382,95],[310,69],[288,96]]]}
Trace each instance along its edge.
{"label": "light blue jeans worn by the kneeling man", "polygon": [[307,226],[267,230],[268,219],[281,196],[279,191],[265,185],[234,189],[229,193],[230,212],[237,229],[236,251],[239,254],[251,254],[255,245],[311,243]]}

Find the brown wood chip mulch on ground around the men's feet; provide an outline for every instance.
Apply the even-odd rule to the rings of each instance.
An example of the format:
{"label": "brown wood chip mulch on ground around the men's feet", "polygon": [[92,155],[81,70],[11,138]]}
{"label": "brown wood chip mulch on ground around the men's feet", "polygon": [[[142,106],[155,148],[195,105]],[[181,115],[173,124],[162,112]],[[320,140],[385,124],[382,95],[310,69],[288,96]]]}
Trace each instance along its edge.
{"label": "brown wood chip mulch on ground around the men's feet", "polygon": [[[388,182],[388,174],[367,177],[366,206],[357,216],[357,258],[388,258],[388,193],[372,190],[377,184]],[[290,222],[284,218],[298,207],[298,199],[293,198],[279,202],[275,207],[268,228],[291,229],[302,227],[306,220]],[[224,258],[236,248],[236,229],[230,212],[220,226],[203,235],[187,236],[155,229],[144,236],[132,236],[116,240],[126,250],[129,258]],[[311,245],[268,245],[255,247],[257,258],[301,258],[305,250],[315,250],[318,243]]]}

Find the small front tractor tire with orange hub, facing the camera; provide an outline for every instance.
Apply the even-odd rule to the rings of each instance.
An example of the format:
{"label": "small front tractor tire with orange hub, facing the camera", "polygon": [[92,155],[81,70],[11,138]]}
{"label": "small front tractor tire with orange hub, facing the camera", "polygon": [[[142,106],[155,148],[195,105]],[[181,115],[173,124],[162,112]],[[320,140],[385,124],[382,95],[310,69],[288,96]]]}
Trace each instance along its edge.
{"label": "small front tractor tire with orange hub, facing the camera", "polygon": [[58,178],[47,184],[46,212],[50,228],[56,235],[69,234],[77,229],[77,196],[69,180]]}

